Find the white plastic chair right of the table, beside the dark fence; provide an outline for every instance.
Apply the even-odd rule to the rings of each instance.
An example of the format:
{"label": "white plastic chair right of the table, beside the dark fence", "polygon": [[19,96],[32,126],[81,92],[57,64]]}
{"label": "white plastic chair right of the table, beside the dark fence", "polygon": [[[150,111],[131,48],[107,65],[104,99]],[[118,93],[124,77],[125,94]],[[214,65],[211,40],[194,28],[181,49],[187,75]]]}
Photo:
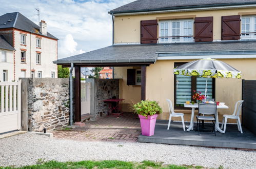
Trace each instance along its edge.
{"label": "white plastic chair right of the table, beside the dark fence", "polygon": [[239,118],[239,113],[240,113],[240,111],[242,109],[243,102],[244,102],[244,100],[239,100],[237,103],[235,103],[234,113],[232,115],[230,115],[230,114],[224,114],[223,115],[221,129],[223,129],[223,125],[224,125],[224,130],[223,130],[224,133],[226,132],[226,125],[227,125],[228,118],[237,119],[238,130],[241,133],[243,133],[241,121],[240,121],[240,118]]}

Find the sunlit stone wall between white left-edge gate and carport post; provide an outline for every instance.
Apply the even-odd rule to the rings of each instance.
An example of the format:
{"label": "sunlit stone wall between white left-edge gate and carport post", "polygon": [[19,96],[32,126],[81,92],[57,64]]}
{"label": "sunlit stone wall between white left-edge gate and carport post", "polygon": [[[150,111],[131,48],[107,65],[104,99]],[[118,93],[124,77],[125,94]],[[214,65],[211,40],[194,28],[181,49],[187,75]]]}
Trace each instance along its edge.
{"label": "sunlit stone wall between white left-edge gate and carport post", "polygon": [[22,105],[23,130],[42,132],[68,125],[69,79],[22,78]]}

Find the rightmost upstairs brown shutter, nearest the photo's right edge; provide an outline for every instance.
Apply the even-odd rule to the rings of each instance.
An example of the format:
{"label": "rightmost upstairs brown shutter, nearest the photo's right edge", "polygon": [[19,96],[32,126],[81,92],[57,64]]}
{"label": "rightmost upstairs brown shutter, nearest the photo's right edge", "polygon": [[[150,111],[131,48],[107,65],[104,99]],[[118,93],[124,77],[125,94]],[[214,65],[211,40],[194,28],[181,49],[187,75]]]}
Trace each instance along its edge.
{"label": "rightmost upstairs brown shutter, nearest the photo's right edge", "polygon": [[240,15],[222,16],[222,40],[240,39]]}

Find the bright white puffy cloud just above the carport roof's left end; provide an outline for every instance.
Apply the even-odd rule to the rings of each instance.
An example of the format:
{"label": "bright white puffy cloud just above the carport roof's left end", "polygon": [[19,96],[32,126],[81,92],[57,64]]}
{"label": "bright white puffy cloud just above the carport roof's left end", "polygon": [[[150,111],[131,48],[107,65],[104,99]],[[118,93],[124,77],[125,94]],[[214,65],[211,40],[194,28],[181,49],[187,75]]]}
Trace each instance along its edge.
{"label": "bright white puffy cloud just above the carport roof's left end", "polygon": [[68,57],[71,55],[77,55],[81,53],[85,53],[82,49],[77,50],[77,43],[74,40],[73,36],[71,34],[67,34],[65,38],[62,40],[62,44],[58,48],[58,53],[62,57]]}

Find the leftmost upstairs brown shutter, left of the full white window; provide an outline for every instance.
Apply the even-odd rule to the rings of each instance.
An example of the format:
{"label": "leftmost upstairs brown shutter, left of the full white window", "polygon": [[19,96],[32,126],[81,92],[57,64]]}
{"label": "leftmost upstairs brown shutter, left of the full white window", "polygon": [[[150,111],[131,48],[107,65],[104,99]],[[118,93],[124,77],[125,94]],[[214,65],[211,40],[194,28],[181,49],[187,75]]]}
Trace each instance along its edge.
{"label": "leftmost upstairs brown shutter, left of the full white window", "polygon": [[141,44],[157,43],[157,20],[141,20]]}

